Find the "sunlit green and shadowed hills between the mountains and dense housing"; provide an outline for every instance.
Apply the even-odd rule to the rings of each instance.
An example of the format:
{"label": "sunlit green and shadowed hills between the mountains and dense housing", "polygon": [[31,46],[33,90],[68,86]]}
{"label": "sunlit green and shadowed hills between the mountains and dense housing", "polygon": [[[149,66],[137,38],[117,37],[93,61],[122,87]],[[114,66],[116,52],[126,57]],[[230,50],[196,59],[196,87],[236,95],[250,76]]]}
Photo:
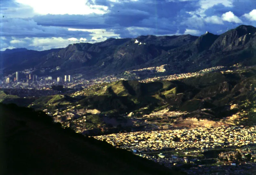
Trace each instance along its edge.
{"label": "sunlit green and shadowed hills between the mountains and dense housing", "polygon": [[[183,113],[176,117],[167,115],[167,118],[161,114],[165,117],[163,121],[166,125],[175,125],[183,119],[250,125],[256,123],[253,117],[256,111],[255,79],[256,68],[248,68],[211,72],[173,81],[141,83],[122,80],[94,85],[65,96],[41,97],[28,106],[36,110],[47,110],[55,121],[81,132],[106,126],[111,128],[121,123],[128,128],[144,125],[148,121],[132,124],[129,120],[143,118],[163,109]],[[3,96],[6,98],[6,95]],[[20,100],[15,98],[18,99]],[[5,99],[3,103],[6,103]],[[96,110],[97,113],[90,110]],[[131,115],[128,117],[129,113]],[[87,122],[84,120],[86,116]],[[97,120],[93,120],[94,117]],[[150,120],[158,126],[163,122],[161,117],[153,117]],[[127,122],[130,124],[125,124]],[[85,123],[87,124],[83,126]]]}

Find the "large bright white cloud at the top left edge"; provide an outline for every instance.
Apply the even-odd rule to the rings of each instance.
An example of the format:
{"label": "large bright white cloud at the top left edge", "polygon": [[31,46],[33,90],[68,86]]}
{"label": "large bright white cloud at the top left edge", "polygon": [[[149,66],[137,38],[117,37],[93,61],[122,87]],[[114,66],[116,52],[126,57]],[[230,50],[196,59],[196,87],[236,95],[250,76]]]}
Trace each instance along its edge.
{"label": "large bright white cloud at the top left edge", "polygon": [[86,15],[90,13],[105,14],[108,12],[107,6],[88,4],[86,0],[16,0],[16,2],[31,6],[35,13],[41,15]]}

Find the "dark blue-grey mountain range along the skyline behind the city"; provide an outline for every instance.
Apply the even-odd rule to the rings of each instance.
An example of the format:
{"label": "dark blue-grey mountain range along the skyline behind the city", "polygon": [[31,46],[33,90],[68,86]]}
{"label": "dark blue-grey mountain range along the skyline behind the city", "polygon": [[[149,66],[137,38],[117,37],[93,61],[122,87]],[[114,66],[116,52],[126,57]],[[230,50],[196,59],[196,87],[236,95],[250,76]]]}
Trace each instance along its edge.
{"label": "dark blue-grey mountain range along the skyline behind the city", "polygon": [[[147,35],[134,39],[110,38],[94,44],[71,44],[63,49],[2,54],[1,59],[5,60],[2,66],[6,73],[35,67],[37,70],[49,68],[42,75],[82,73],[86,77],[95,77],[163,64],[171,65],[169,73],[183,73],[236,63],[256,64],[255,36],[255,27],[241,25],[221,35],[207,32],[200,37]],[[13,58],[17,60],[16,64],[10,61]],[[57,66],[60,69],[56,70]]]}

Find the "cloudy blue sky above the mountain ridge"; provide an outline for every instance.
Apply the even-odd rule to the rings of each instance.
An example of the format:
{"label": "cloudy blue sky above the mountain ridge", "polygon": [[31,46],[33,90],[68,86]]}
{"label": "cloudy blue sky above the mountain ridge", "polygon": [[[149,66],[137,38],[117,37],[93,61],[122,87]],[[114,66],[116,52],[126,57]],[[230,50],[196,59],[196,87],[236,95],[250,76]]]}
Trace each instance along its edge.
{"label": "cloudy blue sky above the mountain ridge", "polygon": [[0,51],[256,27],[256,0],[0,0]]}

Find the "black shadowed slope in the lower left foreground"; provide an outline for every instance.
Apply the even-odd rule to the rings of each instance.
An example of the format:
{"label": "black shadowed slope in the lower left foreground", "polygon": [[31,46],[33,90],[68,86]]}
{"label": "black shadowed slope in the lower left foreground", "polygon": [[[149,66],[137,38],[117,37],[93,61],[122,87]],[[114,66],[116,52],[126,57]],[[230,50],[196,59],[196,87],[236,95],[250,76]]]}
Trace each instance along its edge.
{"label": "black shadowed slope in the lower left foreground", "polygon": [[63,129],[43,112],[0,104],[0,114],[1,174],[179,174]]}

